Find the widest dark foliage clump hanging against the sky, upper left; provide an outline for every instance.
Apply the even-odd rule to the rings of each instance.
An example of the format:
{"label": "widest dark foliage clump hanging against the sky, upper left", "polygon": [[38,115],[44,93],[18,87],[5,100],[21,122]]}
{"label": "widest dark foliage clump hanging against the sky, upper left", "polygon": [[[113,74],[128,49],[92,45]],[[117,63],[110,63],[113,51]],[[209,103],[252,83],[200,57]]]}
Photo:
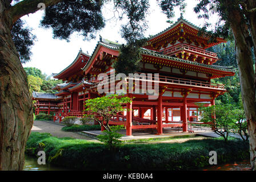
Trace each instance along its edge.
{"label": "widest dark foliage clump hanging against the sky, upper left", "polygon": [[101,1],[61,1],[46,7],[41,26],[53,28],[53,37],[69,40],[73,32],[85,38],[94,38],[93,33],[105,26]]}

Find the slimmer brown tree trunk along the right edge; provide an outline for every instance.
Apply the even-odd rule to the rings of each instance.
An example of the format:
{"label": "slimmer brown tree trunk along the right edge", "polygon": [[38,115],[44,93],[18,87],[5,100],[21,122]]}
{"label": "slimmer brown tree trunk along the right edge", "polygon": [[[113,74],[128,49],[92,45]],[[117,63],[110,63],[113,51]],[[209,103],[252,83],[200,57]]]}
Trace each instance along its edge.
{"label": "slimmer brown tree trunk along the right edge", "polygon": [[241,83],[243,108],[248,121],[250,140],[250,159],[252,169],[256,169],[256,102],[255,102],[255,73],[253,69],[253,56],[249,28],[237,10],[230,12],[230,25],[237,47],[237,64]]}

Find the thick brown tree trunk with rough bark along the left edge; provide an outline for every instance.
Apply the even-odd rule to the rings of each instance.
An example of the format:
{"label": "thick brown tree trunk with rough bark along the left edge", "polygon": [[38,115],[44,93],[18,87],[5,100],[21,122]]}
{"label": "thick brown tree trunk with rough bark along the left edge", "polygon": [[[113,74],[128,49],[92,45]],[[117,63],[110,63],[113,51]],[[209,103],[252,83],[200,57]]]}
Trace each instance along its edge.
{"label": "thick brown tree trunk with rough bark along the left edge", "polygon": [[9,17],[0,7],[0,170],[22,170],[33,109]]}

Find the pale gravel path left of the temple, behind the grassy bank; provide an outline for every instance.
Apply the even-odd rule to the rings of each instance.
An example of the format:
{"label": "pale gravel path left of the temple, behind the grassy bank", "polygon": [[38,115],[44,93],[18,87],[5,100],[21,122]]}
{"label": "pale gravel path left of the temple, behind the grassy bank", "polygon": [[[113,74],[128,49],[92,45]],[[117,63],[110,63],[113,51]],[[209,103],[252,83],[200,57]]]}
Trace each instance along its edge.
{"label": "pale gravel path left of the temple, behind the grassy bank", "polygon": [[[79,135],[73,132],[62,131],[62,125],[58,125],[52,122],[47,121],[34,121],[31,132],[39,132],[39,133],[50,133],[53,137],[71,137],[75,139],[85,139],[85,140],[95,140],[93,138],[85,137],[83,135]],[[97,141],[97,140],[95,140]]]}

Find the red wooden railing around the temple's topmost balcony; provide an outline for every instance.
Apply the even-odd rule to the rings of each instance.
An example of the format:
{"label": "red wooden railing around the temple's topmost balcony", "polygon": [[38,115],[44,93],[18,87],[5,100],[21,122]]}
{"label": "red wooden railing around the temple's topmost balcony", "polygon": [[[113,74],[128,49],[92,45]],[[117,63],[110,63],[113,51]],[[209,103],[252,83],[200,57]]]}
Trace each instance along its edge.
{"label": "red wooden railing around the temple's topmost balcony", "polygon": [[195,53],[201,53],[203,55],[218,58],[217,53],[215,53],[215,52],[206,51],[205,49],[201,49],[201,48],[186,45],[186,44],[177,44],[177,46],[167,48],[167,49],[165,49],[165,51],[163,51],[163,54],[164,55],[173,55],[175,52],[183,51],[183,50],[192,51]]}

